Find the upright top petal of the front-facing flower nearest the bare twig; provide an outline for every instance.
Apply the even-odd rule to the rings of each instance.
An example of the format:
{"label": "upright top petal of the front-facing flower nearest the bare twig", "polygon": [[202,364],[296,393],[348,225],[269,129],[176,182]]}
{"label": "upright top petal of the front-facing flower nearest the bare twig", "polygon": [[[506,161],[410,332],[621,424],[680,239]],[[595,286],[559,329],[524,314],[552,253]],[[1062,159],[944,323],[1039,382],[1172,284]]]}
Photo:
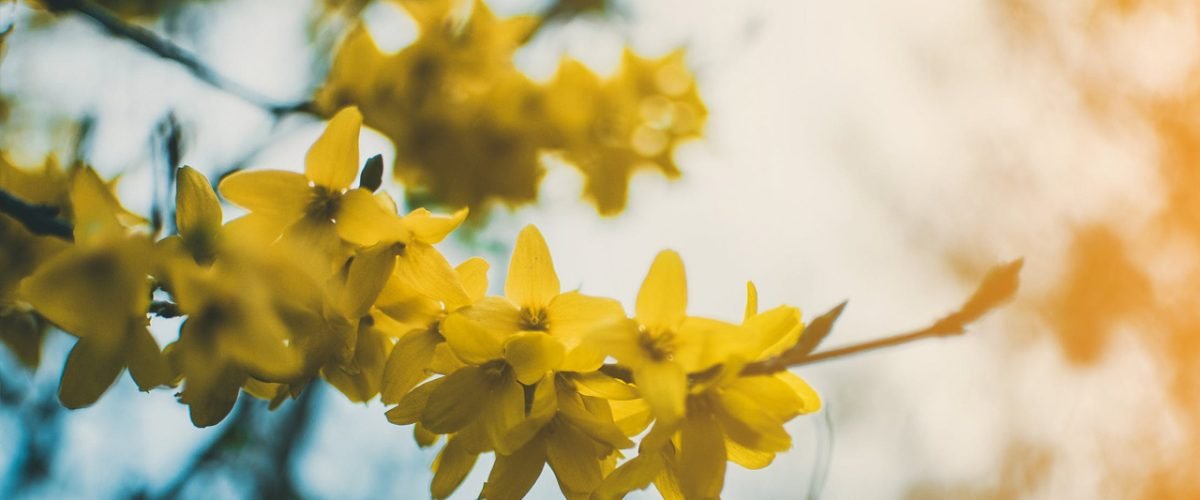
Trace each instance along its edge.
{"label": "upright top petal of the front-facing flower nearest the bare twig", "polygon": [[659,252],[637,293],[637,321],[652,332],[673,330],[688,311],[688,278],[683,260],[672,251]]}

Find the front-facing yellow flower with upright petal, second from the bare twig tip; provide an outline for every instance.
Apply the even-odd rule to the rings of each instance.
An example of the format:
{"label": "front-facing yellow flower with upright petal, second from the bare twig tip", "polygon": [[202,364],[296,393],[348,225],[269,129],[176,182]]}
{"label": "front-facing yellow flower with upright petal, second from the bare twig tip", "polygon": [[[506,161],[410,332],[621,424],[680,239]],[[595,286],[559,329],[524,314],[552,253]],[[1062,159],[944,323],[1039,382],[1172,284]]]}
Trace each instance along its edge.
{"label": "front-facing yellow flower with upright petal, second from the bare twig tip", "polygon": [[743,330],[728,323],[689,317],[688,282],[679,254],[654,259],[637,294],[635,320],[598,332],[600,349],[632,371],[634,382],[654,417],[670,426],[684,416],[688,374],[743,359]]}

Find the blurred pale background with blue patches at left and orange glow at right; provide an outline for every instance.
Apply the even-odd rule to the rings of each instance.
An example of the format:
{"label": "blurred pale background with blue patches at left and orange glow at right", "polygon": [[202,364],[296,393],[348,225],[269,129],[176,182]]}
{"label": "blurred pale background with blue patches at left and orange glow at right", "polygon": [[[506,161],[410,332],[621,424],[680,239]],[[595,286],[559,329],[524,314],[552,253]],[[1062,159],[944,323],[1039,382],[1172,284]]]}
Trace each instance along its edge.
{"label": "blurred pale background with blue patches at left and orange glow at right", "polygon": [[[488,5],[502,16],[547,6]],[[344,31],[314,22],[319,11],[212,0],[142,23],[292,101],[328,65],[312,44]],[[536,204],[496,210],[445,245],[451,260],[496,263],[493,291],[517,230],[535,223],[565,288],[626,309],[661,248],[683,255],[694,313],[738,319],[748,279],[763,303],[810,318],[848,299],[835,347],[923,326],[989,266],[1026,263],[1018,299],[965,337],[798,369],[826,409],[790,424],[794,450],[766,470],[731,466],[727,498],[1200,494],[1194,2],[656,0],[613,11],[547,26],[517,65],[545,80],[570,54],[604,74],[625,44],[683,47],[708,106],[706,137],[676,151],[679,180],[635,175],[613,217],[581,200],[576,170],[551,164]],[[414,37],[386,1],[364,18],[384,49]],[[156,197],[168,113],[184,163],[210,175],[299,170],[322,129],[311,116],[276,120],[78,17],[4,2],[0,19],[13,28],[0,146],[26,162],[66,155],[86,118],[85,158],[122,174],[136,211]],[[362,151],[395,155],[372,132]],[[156,320],[155,333],[170,338],[173,326]],[[427,495],[434,451],[378,403],[325,387],[293,409],[250,402],[196,429],[170,391],[139,393],[122,378],[95,406],[67,411],[54,390],[70,344],[52,336],[34,374],[0,351],[0,496],[252,496],[281,456],[304,496]],[[239,433],[223,432],[239,418]],[[486,462],[460,498],[485,475]],[[548,472],[532,495],[558,495]]]}

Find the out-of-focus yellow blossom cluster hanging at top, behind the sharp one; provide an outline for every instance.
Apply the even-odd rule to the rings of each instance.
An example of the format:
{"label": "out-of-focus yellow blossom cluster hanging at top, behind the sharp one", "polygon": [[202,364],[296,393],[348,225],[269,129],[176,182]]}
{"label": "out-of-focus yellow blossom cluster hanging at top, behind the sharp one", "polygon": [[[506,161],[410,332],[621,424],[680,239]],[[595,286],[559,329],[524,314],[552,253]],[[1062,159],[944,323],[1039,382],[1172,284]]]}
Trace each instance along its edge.
{"label": "out-of-focus yellow blossom cluster hanging at top, behind the sharp one", "polygon": [[626,50],[610,78],[565,59],[539,84],[512,56],[544,18],[499,19],[481,0],[400,4],[416,41],[386,54],[355,29],[316,101],[325,114],[364,109],[366,124],[395,144],[395,175],[412,200],[476,213],[530,203],[545,156],[557,155],[583,174],[584,198],[614,215],[636,170],[677,177],[676,146],[703,129],[707,109],[682,50],[660,59]]}

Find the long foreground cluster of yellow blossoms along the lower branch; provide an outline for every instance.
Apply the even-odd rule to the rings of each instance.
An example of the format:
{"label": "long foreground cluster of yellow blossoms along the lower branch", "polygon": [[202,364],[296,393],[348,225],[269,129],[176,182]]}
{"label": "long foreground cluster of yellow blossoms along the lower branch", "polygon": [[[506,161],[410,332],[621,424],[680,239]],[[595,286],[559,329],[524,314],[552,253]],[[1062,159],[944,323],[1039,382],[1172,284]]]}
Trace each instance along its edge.
{"label": "long foreground cluster of yellow blossoms along the lower branch", "polygon": [[[563,290],[530,225],[504,295],[488,296],[484,259],[452,265],[434,247],[464,210],[400,215],[374,182],[353,187],[361,122],[338,112],[304,173],[223,179],[220,193],[248,210],[228,223],[208,179],[180,169],[179,233],[157,241],[88,167],[0,163],[0,189],[72,228],[68,239],[0,216],[0,338],[32,361],[47,323],[78,337],[59,392],[68,408],[95,403],[126,367],[143,390],[179,387],[199,427],[242,392],[281,404],[317,378],[354,402],[378,397],[421,446],[444,442],[434,498],[484,453],[496,456],[488,499],[523,496],[547,464],[568,498],[652,483],[715,498],[727,462],[766,466],[791,446],[784,423],[821,406],[787,371],[743,369],[799,342],[799,309],[760,311],[751,285],[740,324],[690,315],[670,251],[630,317]],[[185,318],[162,349],[155,314]]]}

